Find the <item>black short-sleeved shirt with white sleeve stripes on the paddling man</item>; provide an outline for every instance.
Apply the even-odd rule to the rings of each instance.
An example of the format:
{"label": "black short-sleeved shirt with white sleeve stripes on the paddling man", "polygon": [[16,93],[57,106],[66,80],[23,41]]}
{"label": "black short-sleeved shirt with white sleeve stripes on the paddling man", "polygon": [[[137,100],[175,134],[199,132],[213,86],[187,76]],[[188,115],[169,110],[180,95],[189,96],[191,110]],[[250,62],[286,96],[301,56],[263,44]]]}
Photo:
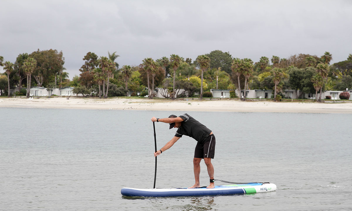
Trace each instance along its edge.
{"label": "black short-sleeved shirt with white sleeve stripes on the paddling man", "polygon": [[179,117],[181,117],[183,121],[181,122],[181,126],[176,131],[176,137],[182,137],[182,135],[187,135],[189,137],[194,138],[200,144],[203,144],[205,139],[212,132],[188,114],[182,114]]}

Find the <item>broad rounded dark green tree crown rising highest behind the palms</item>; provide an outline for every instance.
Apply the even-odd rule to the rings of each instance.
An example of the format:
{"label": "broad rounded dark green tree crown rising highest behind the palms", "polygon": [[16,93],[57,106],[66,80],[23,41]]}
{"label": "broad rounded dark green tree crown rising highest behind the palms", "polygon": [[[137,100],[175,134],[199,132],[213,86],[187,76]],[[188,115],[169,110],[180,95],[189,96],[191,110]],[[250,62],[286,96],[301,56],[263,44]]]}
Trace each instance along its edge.
{"label": "broad rounded dark green tree crown rising highest behind the palms", "polygon": [[215,50],[212,51],[205,56],[209,57],[210,63],[209,63],[209,68],[210,69],[218,69],[219,67],[221,70],[231,73],[231,64],[232,64],[232,57],[229,52],[222,52],[220,50]]}

